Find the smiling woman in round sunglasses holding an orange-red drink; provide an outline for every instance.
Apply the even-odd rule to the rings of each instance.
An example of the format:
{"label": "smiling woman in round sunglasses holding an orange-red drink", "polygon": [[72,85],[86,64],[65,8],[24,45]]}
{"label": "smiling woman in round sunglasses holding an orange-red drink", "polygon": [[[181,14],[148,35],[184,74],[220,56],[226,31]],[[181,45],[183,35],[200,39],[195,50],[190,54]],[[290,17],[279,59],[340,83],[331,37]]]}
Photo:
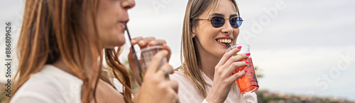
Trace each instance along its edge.
{"label": "smiling woman in round sunglasses holding an orange-red drink", "polygon": [[[241,25],[234,0],[189,0],[182,28],[182,66],[171,80],[177,80],[180,102],[257,102],[256,94],[242,95],[236,80],[246,70],[249,54],[233,56],[240,48],[226,52],[226,43],[236,44]],[[183,85],[182,85],[183,84]]]}

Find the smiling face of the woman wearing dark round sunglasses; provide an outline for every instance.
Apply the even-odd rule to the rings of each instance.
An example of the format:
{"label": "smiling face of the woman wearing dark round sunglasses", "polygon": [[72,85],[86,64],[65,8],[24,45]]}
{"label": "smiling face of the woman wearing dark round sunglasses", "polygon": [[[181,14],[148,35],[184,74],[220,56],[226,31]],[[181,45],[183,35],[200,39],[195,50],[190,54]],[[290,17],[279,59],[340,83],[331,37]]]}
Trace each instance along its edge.
{"label": "smiling face of the woman wearing dark round sunglasses", "polygon": [[[214,9],[215,4],[212,4]],[[220,0],[216,11],[204,11],[198,18],[210,19],[214,16],[222,16],[223,18],[232,18],[237,16],[236,8],[230,0]],[[235,44],[239,35],[239,28],[232,28],[229,20],[226,19],[224,25],[220,28],[214,28],[210,20],[199,20],[198,25],[192,28],[192,37],[199,52],[212,54],[213,56],[222,57],[228,47],[222,42],[229,42],[230,45]]]}

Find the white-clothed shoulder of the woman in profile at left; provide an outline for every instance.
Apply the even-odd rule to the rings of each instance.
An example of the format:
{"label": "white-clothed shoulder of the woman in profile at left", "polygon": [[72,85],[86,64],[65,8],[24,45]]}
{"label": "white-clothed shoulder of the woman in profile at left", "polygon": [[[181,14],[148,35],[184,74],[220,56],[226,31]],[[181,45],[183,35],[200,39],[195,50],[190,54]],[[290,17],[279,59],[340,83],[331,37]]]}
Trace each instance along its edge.
{"label": "white-clothed shoulder of the woman in profile at left", "polygon": [[59,68],[45,65],[21,85],[11,102],[77,102],[82,81],[71,76]]}

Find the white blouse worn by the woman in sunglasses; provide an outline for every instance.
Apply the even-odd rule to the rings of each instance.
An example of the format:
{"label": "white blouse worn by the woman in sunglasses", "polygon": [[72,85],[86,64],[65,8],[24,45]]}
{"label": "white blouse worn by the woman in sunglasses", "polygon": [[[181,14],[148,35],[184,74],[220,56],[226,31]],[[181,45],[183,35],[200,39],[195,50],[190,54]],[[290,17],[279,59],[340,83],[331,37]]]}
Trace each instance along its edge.
{"label": "white blouse worn by the woman in sunglasses", "polygon": [[[207,94],[211,90],[211,87],[213,85],[213,81],[207,77],[202,72],[202,77],[207,83]],[[207,103],[207,100],[204,99],[204,97],[200,94],[200,92],[197,92],[195,89],[194,85],[190,80],[188,80],[183,73],[182,70],[175,71],[173,74],[170,75],[170,80],[176,80],[178,81],[179,84],[179,90],[178,90],[178,96],[180,99],[180,102],[182,103]],[[235,87],[232,87],[231,90],[229,91],[228,97],[226,97],[225,103],[246,103],[246,102],[251,102],[255,103],[258,102],[258,99],[256,97],[255,92],[249,93],[249,94],[244,94],[241,95],[239,92],[238,85]]]}

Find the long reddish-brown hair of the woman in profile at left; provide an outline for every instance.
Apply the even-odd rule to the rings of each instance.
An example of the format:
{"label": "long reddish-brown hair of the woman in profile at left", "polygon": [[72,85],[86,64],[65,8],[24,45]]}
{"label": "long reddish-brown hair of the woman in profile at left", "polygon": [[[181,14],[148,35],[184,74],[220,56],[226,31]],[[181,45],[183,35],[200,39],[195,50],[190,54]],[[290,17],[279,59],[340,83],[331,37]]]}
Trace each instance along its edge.
{"label": "long reddish-brown hair of the woman in profile at left", "polygon": [[[119,51],[104,49],[97,32],[98,0],[28,0],[25,4],[21,35],[18,40],[20,63],[12,96],[31,75],[45,64],[62,58],[70,71],[83,81],[82,102],[95,97],[96,85],[102,72],[104,57],[111,68],[121,75],[124,100],[132,102],[131,81],[126,68],[120,63]],[[89,55],[90,57],[87,57]],[[99,57],[99,60],[94,57]],[[84,60],[92,59],[92,75],[84,70]],[[99,68],[95,68],[99,67]],[[90,76],[97,77],[89,79]],[[118,78],[116,76],[116,78]],[[93,88],[91,84],[95,84]],[[96,102],[96,99],[94,99]]]}

